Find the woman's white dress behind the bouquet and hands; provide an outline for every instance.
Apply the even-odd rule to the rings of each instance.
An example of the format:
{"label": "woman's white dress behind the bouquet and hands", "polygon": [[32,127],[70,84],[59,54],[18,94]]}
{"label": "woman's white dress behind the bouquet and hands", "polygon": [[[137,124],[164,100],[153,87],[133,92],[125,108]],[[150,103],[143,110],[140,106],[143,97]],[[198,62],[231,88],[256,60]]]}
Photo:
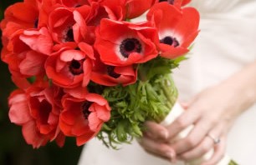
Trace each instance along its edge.
{"label": "woman's white dress behind the bouquet and hands", "polygon": [[[201,32],[190,59],[182,62],[173,74],[182,100],[256,60],[256,0],[192,0],[191,5],[201,13]],[[227,153],[239,164],[256,164],[255,127],[256,106],[253,106],[238,118],[228,134]],[[145,153],[136,142],[124,145],[119,151],[105,148],[97,139],[87,143],[79,165],[105,164],[171,163]]]}

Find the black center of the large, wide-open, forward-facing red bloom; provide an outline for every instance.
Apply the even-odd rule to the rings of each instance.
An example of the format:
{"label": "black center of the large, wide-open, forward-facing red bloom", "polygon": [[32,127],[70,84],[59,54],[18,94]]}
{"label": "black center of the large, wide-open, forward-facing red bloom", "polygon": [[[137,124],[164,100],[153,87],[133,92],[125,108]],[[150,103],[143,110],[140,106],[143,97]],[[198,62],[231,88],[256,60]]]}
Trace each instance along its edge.
{"label": "black center of the large, wide-open, forward-facing red bloom", "polygon": [[131,52],[141,52],[141,42],[136,38],[126,38],[120,44],[120,53],[123,57],[129,57]]}

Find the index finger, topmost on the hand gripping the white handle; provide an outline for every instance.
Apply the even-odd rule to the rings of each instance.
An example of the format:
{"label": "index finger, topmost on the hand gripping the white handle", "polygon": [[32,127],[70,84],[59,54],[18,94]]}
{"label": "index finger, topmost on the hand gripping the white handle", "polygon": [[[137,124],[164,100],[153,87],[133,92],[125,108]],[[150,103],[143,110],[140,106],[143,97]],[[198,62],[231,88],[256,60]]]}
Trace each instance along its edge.
{"label": "index finger, topmost on the hand gripping the white handle", "polygon": [[194,122],[197,122],[199,118],[199,113],[191,108],[187,109],[187,111],[183,112],[180,117],[172,122],[169,126],[167,126],[167,130],[169,132],[169,139],[172,139],[177,136],[178,133],[182,132],[183,129],[192,125]]}

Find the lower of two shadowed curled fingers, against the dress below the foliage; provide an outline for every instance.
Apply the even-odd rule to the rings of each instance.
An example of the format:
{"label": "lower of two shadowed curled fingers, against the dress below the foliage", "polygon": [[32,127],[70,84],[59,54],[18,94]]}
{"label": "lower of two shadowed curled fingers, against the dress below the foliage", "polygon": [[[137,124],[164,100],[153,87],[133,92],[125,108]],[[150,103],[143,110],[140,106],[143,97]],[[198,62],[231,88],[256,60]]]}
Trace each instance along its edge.
{"label": "lower of two shadowed curled fingers, against the dress below the foliage", "polygon": [[158,143],[157,141],[147,137],[141,138],[139,143],[147,153],[151,153],[157,157],[165,158],[171,162],[176,159],[174,150],[166,143]]}

